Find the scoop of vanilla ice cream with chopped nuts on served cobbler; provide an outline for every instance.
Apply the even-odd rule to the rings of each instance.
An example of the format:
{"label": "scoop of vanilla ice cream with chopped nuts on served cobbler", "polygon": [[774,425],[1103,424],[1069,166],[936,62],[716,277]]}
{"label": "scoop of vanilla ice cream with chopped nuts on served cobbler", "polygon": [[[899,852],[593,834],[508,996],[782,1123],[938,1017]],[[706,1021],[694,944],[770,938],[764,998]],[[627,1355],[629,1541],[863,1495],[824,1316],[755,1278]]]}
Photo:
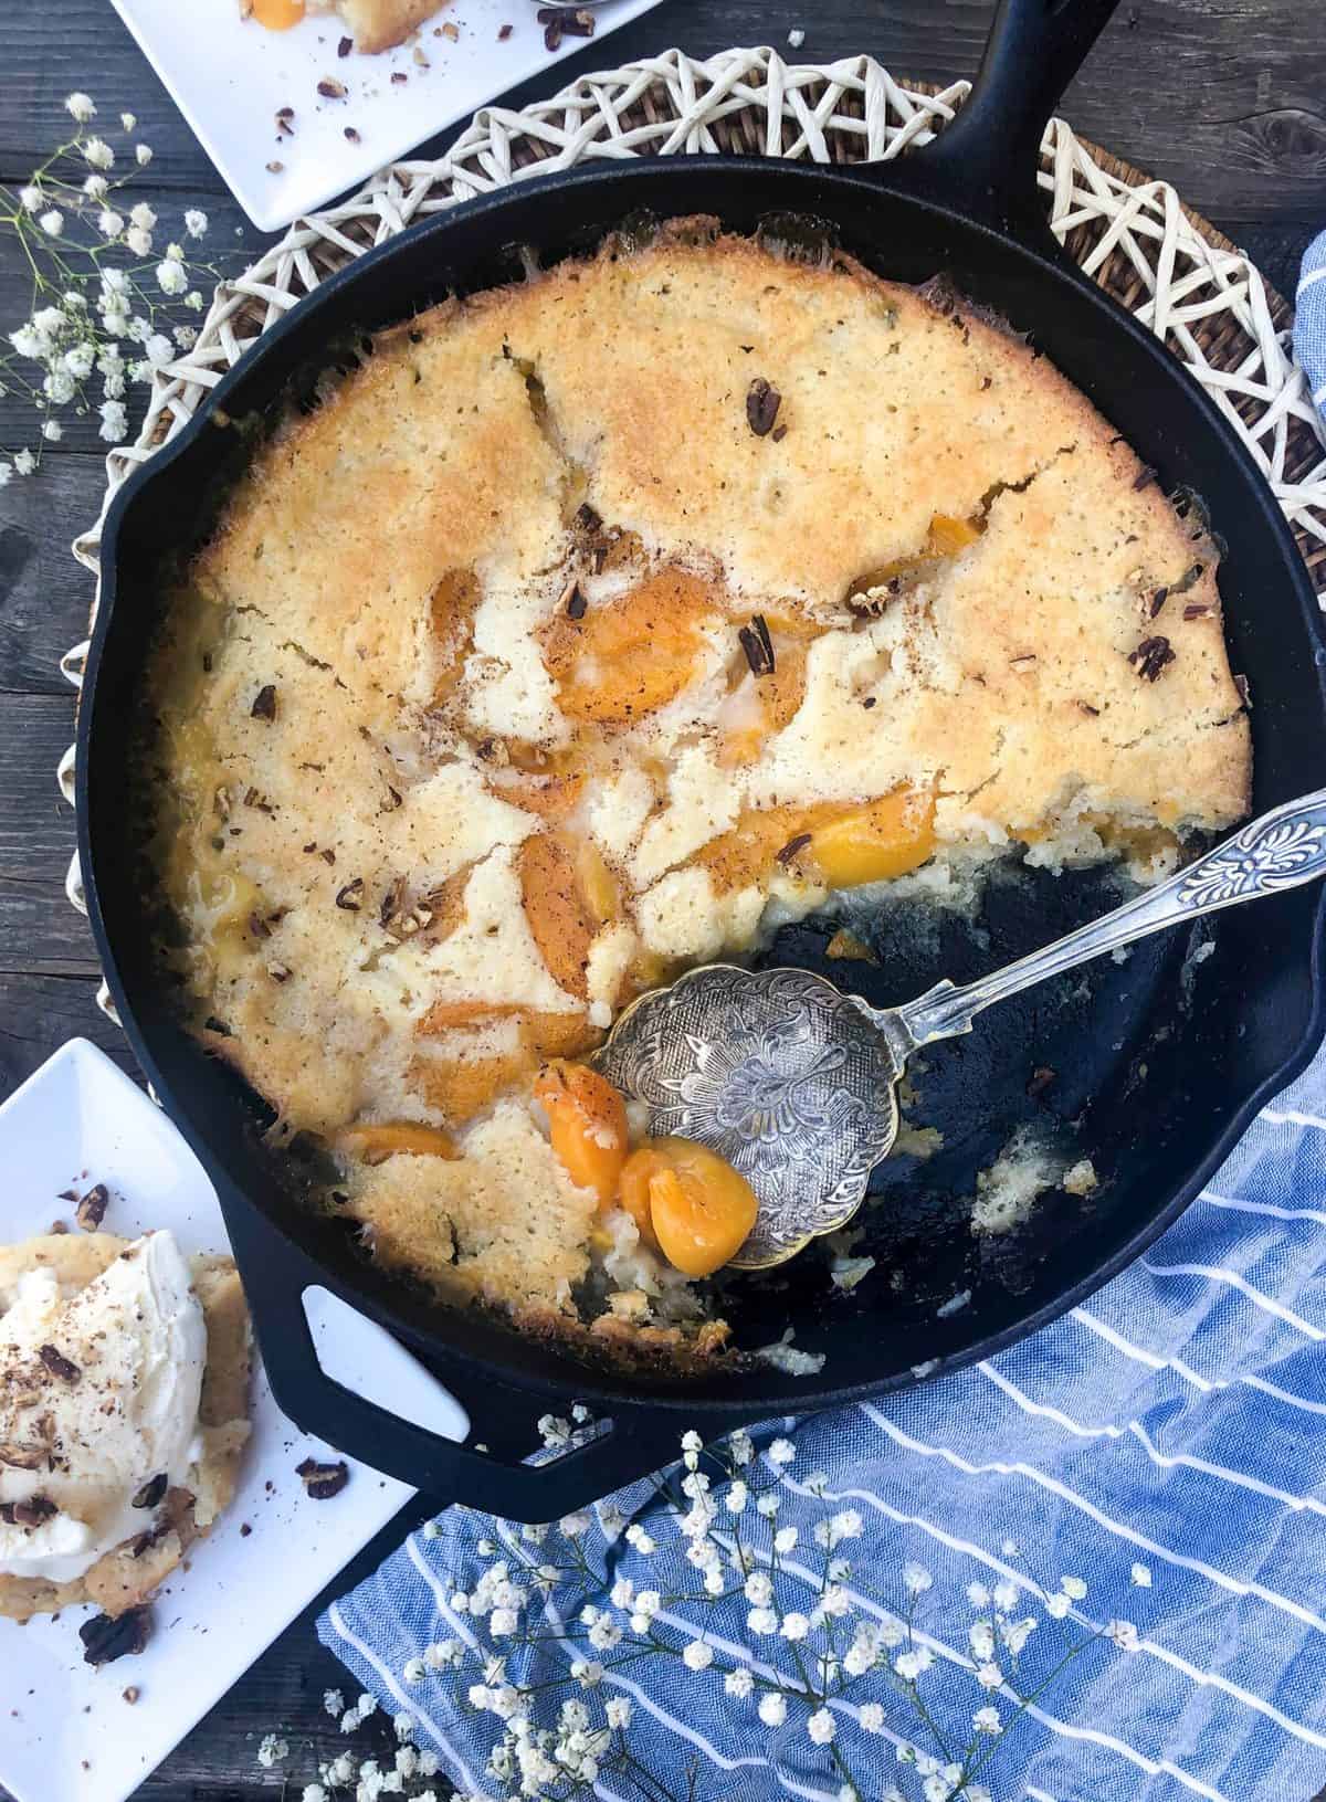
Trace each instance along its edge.
{"label": "scoop of vanilla ice cream with chopped nuts on served cobbler", "polygon": [[[20,1279],[0,1315],[2,1573],[68,1582],[153,1524],[133,1497],[162,1474],[186,1483],[205,1362],[171,1233],[137,1240],[68,1297],[50,1270]],[[29,1506],[14,1517],[14,1503]]]}

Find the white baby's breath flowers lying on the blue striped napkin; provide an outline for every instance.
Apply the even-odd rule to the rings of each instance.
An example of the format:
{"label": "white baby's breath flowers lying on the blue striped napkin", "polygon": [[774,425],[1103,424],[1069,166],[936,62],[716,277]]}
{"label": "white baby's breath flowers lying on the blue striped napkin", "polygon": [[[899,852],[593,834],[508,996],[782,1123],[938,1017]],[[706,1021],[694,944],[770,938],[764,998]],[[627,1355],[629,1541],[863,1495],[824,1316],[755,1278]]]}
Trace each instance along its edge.
{"label": "white baby's breath flowers lying on the blue striped napkin", "polygon": [[[586,1425],[584,1411],[573,1411],[573,1420],[540,1422],[553,1449],[573,1443]],[[476,1725],[492,1717],[495,1737],[485,1779],[508,1802],[540,1797],[569,1802],[596,1788],[622,1802],[683,1802],[685,1779],[674,1793],[649,1750],[631,1748],[634,1710],[627,1692],[649,1683],[641,1670],[647,1660],[667,1660],[685,1672],[685,1681],[697,1687],[697,1712],[733,1706],[767,1734],[796,1735],[802,1752],[809,1743],[823,1759],[825,1793],[838,1802],[861,1802],[867,1795],[872,1802],[989,1802],[989,1789],[975,1775],[985,1775],[998,1750],[993,1741],[1020,1721],[1027,1697],[1041,1694],[1040,1676],[1018,1676],[1018,1658],[1043,1618],[1036,1607],[1050,1618],[1074,1615],[1081,1622],[1077,1604],[1086,1600],[1086,1584],[1065,1575],[1050,1593],[1022,1573],[1000,1575],[993,1584],[973,1580],[966,1586],[975,1611],[967,1645],[949,1645],[940,1633],[922,1627],[935,1589],[935,1577],[922,1564],[901,1566],[892,1609],[876,1600],[879,1591],[870,1579],[877,1573],[854,1586],[841,1548],[863,1537],[861,1514],[836,1505],[841,1497],[829,1496],[823,1474],[789,1485],[795,1461],[796,1447],[787,1438],[758,1452],[748,1433],[706,1447],[690,1431],[681,1442],[681,1470],[659,1487],[650,1505],[650,1526],[640,1519],[627,1523],[604,1505],[564,1515],[555,1526],[517,1530],[494,1521],[476,1541],[479,1559],[486,1561],[477,1577],[468,1566],[461,1582],[443,1577],[441,1593],[447,1609],[463,1616],[463,1636],[416,1649],[404,1660],[400,1679],[420,1692],[425,1716],[432,1697],[445,1708],[459,1696],[474,1710]],[[780,1501],[805,1490],[820,1497],[818,1519],[778,1524]],[[423,1539],[436,1543],[443,1528],[429,1524]],[[504,1555],[497,1557],[499,1552]],[[622,1568],[627,1553],[650,1562],[636,1562],[627,1573]],[[1009,1541],[1004,1557],[1016,1557]],[[645,1570],[649,1577],[641,1582]],[[1146,1588],[1148,1580],[1149,1571],[1135,1566],[1133,1586]],[[744,1611],[749,1647],[733,1645],[722,1627],[708,1629],[712,1598]],[[1097,1642],[1121,1651],[1140,1645],[1137,1627],[1126,1620],[1104,1627],[1086,1622],[1086,1627],[1067,1658],[1056,1636],[1056,1661],[1067,1663]],[[540,1652],[546,1642],[557,1645],[551,1665]],[[926,1685],[933,1683],[937,1654],[946,1660],[949,1683],[966,1674],[962,1679],[971,1685],[967,1744],[946,1746],[942,1757],[924,1744],[899,1741],[879,1699],[892,1694],[895,1710],[912,1710],[915,1732],[924,1730],[924,1739],[931,1732]],[[377,1703],[364,1694],[346,1708],[344,1696],[328,1690],[324,1706],[350,1734]],[[413,1716],[396,1716],[395,1732],[400,1744],[391,1768],[371,1759],[355,1764],[342,1755],[321,1768],[319,1782],[303,1793],[304,1802],[341,1802],[342,1793],[346,1802],[351,1793],[353,1802],[387,1795],[438,1802],[431,1789],[411,1788],[436,1773],[432,1753],[414,1744]],[[881,1789],[877,1746],[872,1752],[877,1735],[897,1744],[908,1782],[915,1784],[906,1795],[897,1786]],[[272,1750],[272,1759],[283,1755]]]}

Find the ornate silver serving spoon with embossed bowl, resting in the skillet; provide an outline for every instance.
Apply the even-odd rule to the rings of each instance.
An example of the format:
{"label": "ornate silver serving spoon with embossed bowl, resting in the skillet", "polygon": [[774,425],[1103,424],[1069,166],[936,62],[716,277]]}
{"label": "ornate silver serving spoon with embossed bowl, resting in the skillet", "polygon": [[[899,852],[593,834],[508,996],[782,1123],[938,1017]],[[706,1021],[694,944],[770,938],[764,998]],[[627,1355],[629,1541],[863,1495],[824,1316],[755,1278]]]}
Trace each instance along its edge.
{"label": "ornate silver serving spoon with embossed bowl, resting in the skillet", "polygon": [[650,1137],[697,1139],[728,1159],[760,1204],[731,1260],[764,1270],[843,1227],[897,1137],[895,1087],[919,1045],[993,1002],[1103,951],[1326,876],[1326,789],[1286,802],[1167,881],[1065,939],[903,1007],[870,1007],[809,969],[708,964],[641,995],[595,1063],[649,1108]]}

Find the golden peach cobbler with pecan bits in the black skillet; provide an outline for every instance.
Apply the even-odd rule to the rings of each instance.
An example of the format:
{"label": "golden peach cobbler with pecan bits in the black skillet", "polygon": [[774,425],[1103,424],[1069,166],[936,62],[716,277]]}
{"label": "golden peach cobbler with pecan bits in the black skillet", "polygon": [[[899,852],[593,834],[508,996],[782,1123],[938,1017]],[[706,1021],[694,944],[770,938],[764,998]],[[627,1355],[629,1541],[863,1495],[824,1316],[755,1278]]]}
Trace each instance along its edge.
{"label": "golden peach cobbler with pecan bits in the black skillet", "polygon": [[717,1352],[535,1070],[843,890],[868,933],[1232,824],[1214,560],[1025,346],[841,258],[692,223],[440,306],[272,436],[173,596],[150,768],[198,1031],[382,1261]]}

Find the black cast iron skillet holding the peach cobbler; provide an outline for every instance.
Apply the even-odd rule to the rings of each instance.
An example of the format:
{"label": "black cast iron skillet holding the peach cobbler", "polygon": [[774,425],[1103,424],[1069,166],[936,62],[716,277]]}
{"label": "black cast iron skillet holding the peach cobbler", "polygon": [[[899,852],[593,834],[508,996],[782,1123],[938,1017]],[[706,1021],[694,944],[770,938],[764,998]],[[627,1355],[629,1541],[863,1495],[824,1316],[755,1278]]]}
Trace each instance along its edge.
{"label": "black cast iron skillet holding the peach cobbler", "polygon": [[[515,247],[544,261],[589,247],[636,214],[719,214],[755,231],[777,214],[827,225],[885,276],[953,287],[1031,333],[1160,472],[1205,497],[1229,542],[1220,586],[1236,670],[1247,672],[1256,809],[1326,786],[1326,699],[1315,600],[1292,537],[1220,411],[1178,362],[1054,245],[1034,195],[1036,148],[1059,92],[1112,0],[1004,0],[976,92],[937,146],[903,162],[816,168],[760,159],[683,159],[578,168],[522,182],[431,220],[326,281],[267,332],[193,423],[124,485],[103,537],[104,587],[77,742],[77,820],[92,930],[135,1054],[216,1184],[267,1370],[306,1429],[441,1499],[549,1519],[665,1461],[677,1433],[717,1433],[904,1388],[913,1366],[953,1370],[1054,1319],[1135,1258],[1198,1193],[1258,1105],[1295,1074],[1322,1034],[1319,892],[1294,890],[1220,915],[1216,953],[1187,942],[1139,948],[1083,978],[987,1015],[937,1052],[921,1117],[944,1150],[921,1169],[877,1173],[863,1251],[879,1267],[850,1297],[804,1256],[726,1297],[739,1342],[795,1326],[823,1352],[818,1377],[773,1368],[701,1382],[587,1370],[476,1315],[431,1305],[384,1278],[333,1222],[301,1211],[283,1162],[259,1141],[256,1097],[184,1033],[144,930],[126,816],[144,645],[157,631],[162,557],[205,535],[240,436],[231,418],[312,393],[348,342],[452,290],[519,276]],[[366,503],[368,505],[368,503]],[[901,1000],[1020,955],[1112,901],[1099,872],[1036,872],[993,883],[973,924],[894,908],[863,923],[879,964],[825,964],[829,926],[778,935],[771,960],[829,969],[872,1000]],[[1054,1079],[1027,1097],[1034,1069]],[[1038,1085],[1032,1083],[1032,1088]],[[962,1197],[1009,1132],[1034,1117],[1094,1157],[1103,1186],[1056,1195],[1009,1240],[973,1240]],[[1076,1124],[1070,1124],[1076,1123]],[[315,1361],[301,1294],[324,1285],[398,1333],[454,1389],[488,1452],[440,1440],[357,1398]],[[971,1290],[957,1312],[948,1297]],[[531,1422],[580,1397],[611,1431],[555,1463],[521,1465]]]}

